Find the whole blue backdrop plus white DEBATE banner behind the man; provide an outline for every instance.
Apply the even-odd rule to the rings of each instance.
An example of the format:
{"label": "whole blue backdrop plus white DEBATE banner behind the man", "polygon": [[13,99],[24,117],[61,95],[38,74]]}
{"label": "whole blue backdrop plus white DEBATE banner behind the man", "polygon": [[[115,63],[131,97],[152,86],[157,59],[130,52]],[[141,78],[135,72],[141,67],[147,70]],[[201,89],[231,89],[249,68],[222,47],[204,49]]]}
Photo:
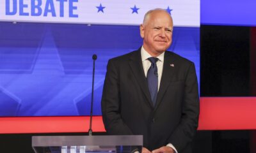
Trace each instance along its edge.
{"label": "whole blue backdrop plus white DEBATE banner behind the man", "polygon": [[0,3],[0,116],[93,115],[108,60],[138,50],[152,8],[172,14],[169,50],[195,62],[200,82],[200,1],[13,1]]}

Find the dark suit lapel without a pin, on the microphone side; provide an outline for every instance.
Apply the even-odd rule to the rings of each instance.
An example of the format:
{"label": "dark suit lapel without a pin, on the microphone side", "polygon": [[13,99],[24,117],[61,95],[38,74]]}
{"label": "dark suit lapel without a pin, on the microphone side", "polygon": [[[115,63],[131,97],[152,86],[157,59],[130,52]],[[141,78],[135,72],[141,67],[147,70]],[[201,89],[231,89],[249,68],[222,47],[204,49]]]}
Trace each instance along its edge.
{"label": "dark suit lapel without a pin, on the microphone side", "polygon": [[138,81],[138,84],[140,85],[141,90],[145,94],[148,103],[150,104],[150,106],[152,106],[152,108],[154,108],[150,98],[150,93],[148,91],[147,79],[145,77],[145,73],[142,66],[140,49],[131,55],[129,66],[132,69],[132,73],[134,74],[136,80]]}

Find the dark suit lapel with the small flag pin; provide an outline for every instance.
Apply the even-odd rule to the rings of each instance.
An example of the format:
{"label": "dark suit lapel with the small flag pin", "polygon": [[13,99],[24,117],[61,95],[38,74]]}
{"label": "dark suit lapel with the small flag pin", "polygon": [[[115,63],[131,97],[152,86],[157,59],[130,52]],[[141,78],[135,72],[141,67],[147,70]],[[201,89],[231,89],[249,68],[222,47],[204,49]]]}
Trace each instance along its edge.
{"label": "dark suit lapel with the small flag pin", "polygon": [[161,103],[163,96],[166,92],[166,89],[168,88],[172,80],[173,74],[175,73],[175,66],[174,66],[175,64],[173,64],[174,61],[175,59],[172,53],[166,51],[164,53],[163,74],[162,74],[161,83],[160,83],[159,91],[157,94],[157,102],[154,110],[156,110],[159,104]]}

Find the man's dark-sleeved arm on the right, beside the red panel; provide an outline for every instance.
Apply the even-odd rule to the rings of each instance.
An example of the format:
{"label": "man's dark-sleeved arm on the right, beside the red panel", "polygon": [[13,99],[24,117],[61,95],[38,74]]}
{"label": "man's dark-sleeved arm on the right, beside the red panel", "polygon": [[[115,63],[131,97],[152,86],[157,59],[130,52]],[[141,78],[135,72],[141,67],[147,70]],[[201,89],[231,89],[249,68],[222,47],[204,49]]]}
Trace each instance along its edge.
{"label": "man's dark-sleeved arm on the right, beside the red panel", "polygon": [[193,139],[198,127],[198,117],[198,82],[196,78],[195,65],[192,63],[190,64],[186,75],[180,123],[168,139],[168,142],[172,143],[178,152],[182,151],[182,149],[184,149]]}

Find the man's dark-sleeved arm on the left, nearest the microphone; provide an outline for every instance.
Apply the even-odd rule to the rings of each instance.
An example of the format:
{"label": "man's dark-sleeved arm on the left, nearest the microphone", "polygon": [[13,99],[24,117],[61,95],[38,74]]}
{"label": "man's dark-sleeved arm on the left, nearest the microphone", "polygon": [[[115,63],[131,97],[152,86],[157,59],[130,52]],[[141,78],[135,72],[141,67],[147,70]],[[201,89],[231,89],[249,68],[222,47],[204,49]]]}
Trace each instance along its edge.
{"label": "man's dark-sleeved arm on the left, nearest the microphone", "polygon": [[104,126],[109,135],[132,135],[131,129],[123,122],[120,115],[119,72],[113,60],[109,60],[101,109]]}

